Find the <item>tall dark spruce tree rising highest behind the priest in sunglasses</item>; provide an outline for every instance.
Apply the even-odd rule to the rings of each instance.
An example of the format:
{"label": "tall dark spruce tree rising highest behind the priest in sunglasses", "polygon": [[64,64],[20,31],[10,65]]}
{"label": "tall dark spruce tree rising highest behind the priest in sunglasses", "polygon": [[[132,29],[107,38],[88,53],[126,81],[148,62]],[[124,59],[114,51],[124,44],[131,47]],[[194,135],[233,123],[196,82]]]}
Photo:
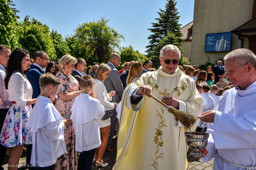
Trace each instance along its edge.
{"label": "tall dark spruce tree rising highest behind the priest in sunglasses", "polygon": [[[157,12],[159,14],[159,18],[156,18],[156,23],[152,23],[152,28],[148,29],[151,31],[151,35],[149,35],[149,45],[146,46],[148,48],[146,52],[148,53],[147,57],[151,57],[153,54],[153,48],[158,45],[160,40],[167,36],[168,32],[172,32],[176,37],[182,37],[182,33],[180,31],[179,12],[176,8],[177,2],[175,0],[168,0],[165,5],[165,10],[159,9]],[[177,39],[179,43],[182,42],[182,39]]]}

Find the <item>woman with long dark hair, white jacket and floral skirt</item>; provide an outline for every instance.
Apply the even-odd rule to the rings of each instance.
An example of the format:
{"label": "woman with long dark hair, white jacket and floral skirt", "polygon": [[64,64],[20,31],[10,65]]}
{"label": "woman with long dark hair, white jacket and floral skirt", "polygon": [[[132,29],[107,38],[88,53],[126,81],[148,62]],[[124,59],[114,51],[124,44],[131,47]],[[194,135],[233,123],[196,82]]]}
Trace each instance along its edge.
{"label": "woman with long dark hair, white jacket and floral skirt", "polygon": [[9,91],[8,100],[12,102],[0,134],[0,143],[5,147],[12,147],[8,170],[16,170],[24,144],[32,144],[31,133],[26,127],[31,104],[37,101],[32,98],[32,87],[24,71],[30,67],[29,52],[16,48],[10,55],[7,64],[5,86]]}

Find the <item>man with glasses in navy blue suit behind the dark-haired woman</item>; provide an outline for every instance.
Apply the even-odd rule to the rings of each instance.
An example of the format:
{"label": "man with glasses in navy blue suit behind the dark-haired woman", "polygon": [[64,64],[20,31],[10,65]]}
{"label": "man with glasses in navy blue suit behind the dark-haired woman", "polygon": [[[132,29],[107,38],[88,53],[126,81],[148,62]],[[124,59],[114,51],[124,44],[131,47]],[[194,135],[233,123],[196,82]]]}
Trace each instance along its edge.
{"label": "man with glasses in navy blue suit behind the dark-haired woman", "polygon": [[50,61],[48,54],[42,50],[36,51],[33,57],[34,64],[30,66],[29,71],[26,73],[26,76],[33,89],[32,98],[37,98],[41,93],[39,77],[45,73],[43,68],[47,67]]}

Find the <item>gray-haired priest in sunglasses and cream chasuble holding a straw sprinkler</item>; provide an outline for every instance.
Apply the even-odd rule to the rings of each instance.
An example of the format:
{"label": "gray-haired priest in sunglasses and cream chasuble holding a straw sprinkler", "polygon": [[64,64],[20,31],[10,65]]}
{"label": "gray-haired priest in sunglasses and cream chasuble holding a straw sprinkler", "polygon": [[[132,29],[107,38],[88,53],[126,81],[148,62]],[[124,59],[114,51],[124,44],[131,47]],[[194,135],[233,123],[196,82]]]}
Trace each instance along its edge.
{"label": "gray-haired priest in sunglasses and cream chasuble holding a straw sprinkler", "polygon": [[180,56],[176,46],[163,47],[160,68],[143,74],[125,89],[113,170],[187,169],[187,129],[167,108],[150,98],[153,95],[168,106],[194,115],[202,112],[202,97],[194,80],[177,68]]}

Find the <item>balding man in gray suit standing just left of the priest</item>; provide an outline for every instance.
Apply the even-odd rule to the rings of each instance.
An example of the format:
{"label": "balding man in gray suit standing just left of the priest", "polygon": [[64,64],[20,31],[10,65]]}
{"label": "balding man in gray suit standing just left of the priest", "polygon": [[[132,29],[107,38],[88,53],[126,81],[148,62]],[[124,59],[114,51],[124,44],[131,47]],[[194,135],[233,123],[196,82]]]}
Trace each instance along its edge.
{"label": "balding man in gray suit standing just left of the priest", "polygon": [[[109,57],[108,66],[111,68],[111,71],[109,72],[108,78],[104,80],[104,85],[106,87],[107,92],[115,91],[116,94],[112,97],[112,102],[119,103],[122,99],[122,95],[124,92],[123,89],[123,83],[121,82],[119,72],[115,68],[120,64],[121,57],[117,53],[112,53]],[[111,125],[110,125],[110,132],[109,132],[109,138],[108,138],[108,144],[106,151],[109,152],[116,152],[116,148],[111,147],[111,142],[115,133],[115,127],[117,122],[117,112],[114,108],[112,111],[113,116],[110,118]]]}

